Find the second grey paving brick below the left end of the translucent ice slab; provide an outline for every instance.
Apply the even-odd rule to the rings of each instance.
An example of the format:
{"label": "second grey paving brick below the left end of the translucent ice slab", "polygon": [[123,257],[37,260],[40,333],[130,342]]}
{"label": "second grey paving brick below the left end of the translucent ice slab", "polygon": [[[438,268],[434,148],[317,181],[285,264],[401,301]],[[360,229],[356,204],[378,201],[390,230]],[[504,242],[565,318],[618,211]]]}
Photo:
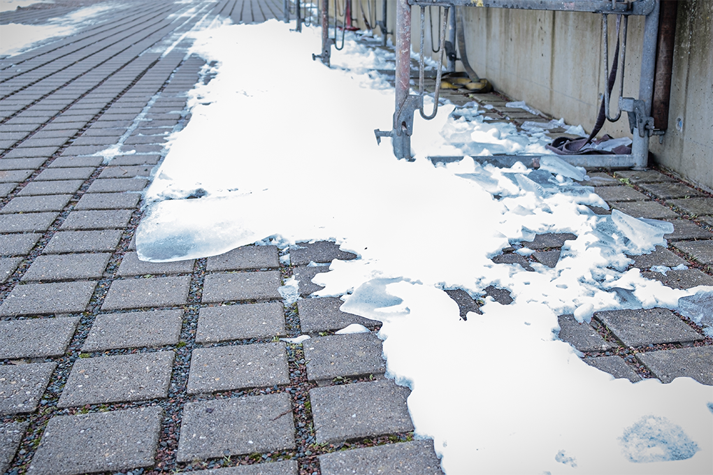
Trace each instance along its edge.
{"label": "second grey paving brick below the left end of the translucent ice slab", "polygon": [[113,281],[102,310],[183,305],[190,277],[130,278]]}

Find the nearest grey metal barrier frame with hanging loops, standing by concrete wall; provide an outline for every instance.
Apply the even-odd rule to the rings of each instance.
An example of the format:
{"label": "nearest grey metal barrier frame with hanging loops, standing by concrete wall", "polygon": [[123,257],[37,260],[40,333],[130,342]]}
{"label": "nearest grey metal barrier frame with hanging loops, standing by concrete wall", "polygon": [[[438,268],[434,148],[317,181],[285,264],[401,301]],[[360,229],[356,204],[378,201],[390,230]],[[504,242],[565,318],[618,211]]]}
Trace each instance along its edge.
{"label": "nearest grey metal barrier frame with hanging loops, standing by concrete wall", "polygon": [[[414,131],[414,113],[416,109],[421,110],[421,115],[427,120],[433,118],[426,117],[423,113],[424,101],[424,75],[419,74],[419,93],[409,93],[409,64],[411,58],[411,6],[421,7],[421,61],[420,69],[423,68],[424,57],[424,9],[426,6],[441,6],[454,9],[456,6],[464,7],[490,7],[503,9],[527,9],[527,10],[548,10],[548,11],[578,11],[589,12],[602,15],[602,28],[604,33],[605,68],[608,73],[608,40],[607,40],[607,16],[610,14],[624,17],[623,28],[623,53],[621,63],[624,63],[626,51],[627,17],[631,15],[644,16],[644,38],[641,57],[641,75],[639,82],[639,98],[622,98],[619,94],[619,113],[611,119],[618,119],[621,111],[629,115],[630,130],[633,134],[632,153],[630,155],[560,155],[560,158],[570,162],[572,165],[581,167],[612,167],[612,168],[634,168],[643,169],[647,166],[649,153],[649,137],[660,135],[660,131],[654,130],[653,118],[651,115],[651,103],[653,98],[654,72],[656,63],[656,41],[659,23],[660,0],[396,0],[396,104],[393,117],[393,127],[389,131],[374,130],[377,142],[381,137],[391,137],[394,147],[394,155],[398,159],[413,160],[411,158],[411,135]],[[443,15],[448,18],[448,13]],[[453,16],[451,16],[452,18]],[[445,23],[445,21],[444,21]],[[618,22],[617,22],[618,23]],[[618,28],[617,28],[618,31]],[[449,32],[450,33],[450,32]],[[444,37],[443,32],[441,38]],[[443,46],[441,46],[441,69],[443,68]],[[623,67],[621,71],[621,83],[623,83]],[[608,77],[608,74],[607,74]],[[620,83],[620,87],[621,87]],[[436,80],[436,105],[438,103],[438,89],[440,88],[440,70]],[[605,85],[605,107],[609,117],[610,93]],[[435,114],[433,115],[435,116]],[[508,158],[511,157],[511,158]],[[438,160],[438,157],[433,157]],[[487,158],[487,157],[483,157]],[[537,156],[498,156],[498,159],[516,160],[528,164],[537,164],[540,155]]]}

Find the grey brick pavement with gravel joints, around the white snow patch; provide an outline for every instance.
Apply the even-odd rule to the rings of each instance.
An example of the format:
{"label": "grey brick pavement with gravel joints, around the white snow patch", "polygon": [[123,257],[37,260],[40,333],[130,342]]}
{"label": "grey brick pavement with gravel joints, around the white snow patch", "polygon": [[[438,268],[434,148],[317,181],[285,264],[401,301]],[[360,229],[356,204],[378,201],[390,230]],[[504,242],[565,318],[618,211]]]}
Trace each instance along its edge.
{"label": "grey brick pavement with gravel joints, around the white snow patch", "polygon": [[[0,23],[41,24],[91,3],[56,1]],[[277,0],[135,1],[0,58],[0,473],[441,473],[431,442],[413,440],[409,390],[384,378],[380,323],[310,298],[328,267],[308,264],[353,254],[320,242],[174,263],[136,256],[140,191],[166,135],[190,120],[185,92],[201,79],[183,33],[220,16],[281,14]],[[480,100],[508,120],[501,96]],[[108,165],[93,155],[107,147],[119,152]],[[713,285],[710,194],[655,170],[590,177],[612,207],[674,223],[669,249],[634,266],[669,286]],[[530,261],[510,251],[494,260],[553,266],[571,237],[524,243]],[[689,268],[650,270],[679,263]],[[277,289],[292,275],[304,298],[287,305]],[[478,311],[464,291],[448,293],[463,316]],[[351,323],[372,331],[334,334]],[[560,323],[561,338],[617,377],[713,384],[712,340],[670,310]],[[302,345],[279,340],[303,333],[312,339]]]}

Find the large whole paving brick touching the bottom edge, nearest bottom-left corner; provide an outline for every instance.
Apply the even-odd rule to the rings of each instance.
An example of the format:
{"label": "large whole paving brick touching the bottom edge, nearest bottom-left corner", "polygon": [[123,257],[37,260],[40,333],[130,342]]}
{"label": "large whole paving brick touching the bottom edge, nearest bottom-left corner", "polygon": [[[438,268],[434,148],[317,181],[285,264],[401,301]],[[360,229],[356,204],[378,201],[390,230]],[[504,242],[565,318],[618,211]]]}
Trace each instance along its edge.
{"label": "large whole paving brick touching the bottom edge, nearest bottom-left corner", "polygon": [[157,406],[53,417],[27,474],[78,475],[151,466],[162,417],[163,409]]}

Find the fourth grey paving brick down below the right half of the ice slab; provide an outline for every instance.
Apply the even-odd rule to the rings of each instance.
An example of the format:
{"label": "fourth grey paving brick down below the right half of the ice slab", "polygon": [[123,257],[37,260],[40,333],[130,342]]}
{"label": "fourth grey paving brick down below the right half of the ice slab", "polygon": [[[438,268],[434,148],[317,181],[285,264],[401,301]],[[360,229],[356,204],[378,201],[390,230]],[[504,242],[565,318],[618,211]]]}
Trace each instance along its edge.
{"label": "fourth grey paving brick down below the right half of the ice slab", "polygon": [[188,394],[289,384],[284,343],[193,350]]}

